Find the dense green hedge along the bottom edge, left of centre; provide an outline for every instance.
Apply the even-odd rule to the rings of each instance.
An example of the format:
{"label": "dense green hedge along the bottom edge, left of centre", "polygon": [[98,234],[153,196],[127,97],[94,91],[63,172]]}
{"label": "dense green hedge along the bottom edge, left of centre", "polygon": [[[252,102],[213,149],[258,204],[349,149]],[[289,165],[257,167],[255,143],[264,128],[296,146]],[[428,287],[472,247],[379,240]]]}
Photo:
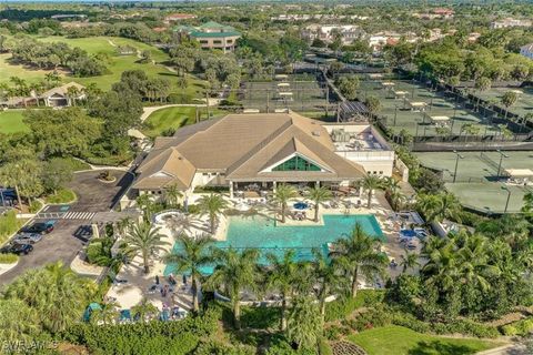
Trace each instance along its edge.
{"label": "dense green hedge along the bottom edge, left of centre", "polygon": [[97,325],[81,323],[71,327],[63,338],[86,345],[91,354],[163,355],[189,354],[201,339],[211,336],[218,326],[220,312],[210,310],[202,316],[180,322]]}

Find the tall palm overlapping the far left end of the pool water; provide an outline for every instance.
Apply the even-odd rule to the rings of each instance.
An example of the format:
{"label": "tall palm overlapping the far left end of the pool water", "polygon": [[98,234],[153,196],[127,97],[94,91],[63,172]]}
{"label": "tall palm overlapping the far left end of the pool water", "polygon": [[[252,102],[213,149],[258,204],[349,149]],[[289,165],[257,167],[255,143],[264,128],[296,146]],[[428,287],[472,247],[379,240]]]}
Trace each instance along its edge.
{"label": "tall palm overlapping the far left end of the pool water", "polygon": [[192,308],[194,312],[198,312],[199,281],[202,277],[201,270],[213,262],[213,257],[208,252],[208,246],[213,243],[213,240],[209,235],[192,239],[182,233],[178,236],[178,251],[169,253],[164,261],[168,264],[175,265],[177,273],[191,275]]}

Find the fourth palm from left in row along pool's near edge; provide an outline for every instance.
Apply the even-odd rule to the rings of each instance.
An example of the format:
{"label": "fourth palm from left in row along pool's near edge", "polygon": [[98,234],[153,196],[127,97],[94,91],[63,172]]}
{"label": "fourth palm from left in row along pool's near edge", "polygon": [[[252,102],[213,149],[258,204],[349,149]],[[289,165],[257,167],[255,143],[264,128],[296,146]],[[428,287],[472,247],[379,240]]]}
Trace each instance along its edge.
{"label": "fourth palm from left in row along pool's near edge", "polygon": [[311,264],[311,278],[314,284],[316,298],[319,300],[320,315],[322,322],[325,317],[325,298],[334,291],[344,288],[346,282],[340,272],[340,267],[335,260],[325,258],[322,253],[313,248],[314,261]]}

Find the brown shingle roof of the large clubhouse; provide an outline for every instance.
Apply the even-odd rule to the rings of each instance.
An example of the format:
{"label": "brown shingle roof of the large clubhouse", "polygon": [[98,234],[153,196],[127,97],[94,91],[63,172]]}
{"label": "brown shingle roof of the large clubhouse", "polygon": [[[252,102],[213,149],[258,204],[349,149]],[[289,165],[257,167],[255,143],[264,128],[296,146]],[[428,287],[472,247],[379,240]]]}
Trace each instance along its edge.
{"label": "brown shingle roof of the large clubhouse", "polygon": [[[306,158],[324,171],[264,172],[291,154]],[[152,189],[143,186],[168,185],[171,180],[187,189],[197,171],[225,172],[235,181],[352,180],[365,174],[362,166],[335,154],[328,131],[314,120],[293,112],[229,114],[180,129],[172,138],[158,138],[138,169],[134,186]]]}

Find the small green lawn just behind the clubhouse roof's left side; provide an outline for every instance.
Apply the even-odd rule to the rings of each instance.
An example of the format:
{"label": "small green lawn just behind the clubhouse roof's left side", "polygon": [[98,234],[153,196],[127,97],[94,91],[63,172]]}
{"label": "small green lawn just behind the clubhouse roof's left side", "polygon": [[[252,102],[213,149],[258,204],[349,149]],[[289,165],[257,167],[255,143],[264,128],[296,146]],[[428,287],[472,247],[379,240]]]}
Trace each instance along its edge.
{"label": "small green lawn just behind the clubhouse roof's left side", "polygon": [[[167,108],[154,111],[144,122],[145,126],[142,130],[148,136],[155,138],[161,135],[167,130],[178,130],[181,126],[187,124],[192,124],[195,121],[197,108],[188,106],[188,108]],[[205,119],[205,108],[199,108],[200,119]],[[211,118],[221,116],[225,113],[225,111],[217,110],[211,108],[210,115]]]}

